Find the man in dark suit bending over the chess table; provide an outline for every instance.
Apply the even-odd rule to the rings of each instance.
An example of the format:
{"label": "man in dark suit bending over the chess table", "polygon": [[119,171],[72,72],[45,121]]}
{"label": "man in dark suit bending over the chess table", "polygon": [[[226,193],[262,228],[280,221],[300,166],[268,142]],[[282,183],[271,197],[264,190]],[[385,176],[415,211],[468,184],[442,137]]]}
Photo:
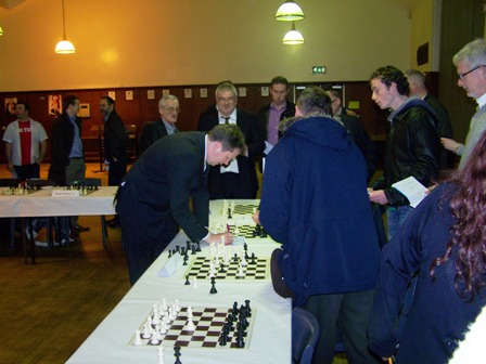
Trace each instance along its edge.
{"label": "man in dark suit bending over the chess table", "polygon": [[206,227],[206,177],[210,166],[227,165],[244,151],[240,129],[223,125],[207,134],[193,131],[165,136],[133,164],[116,196],[132,285],[176,236],[178,225],[192,242],[219,243],[221,237],[226,244],[232,242],[231,234],[212,234]]}

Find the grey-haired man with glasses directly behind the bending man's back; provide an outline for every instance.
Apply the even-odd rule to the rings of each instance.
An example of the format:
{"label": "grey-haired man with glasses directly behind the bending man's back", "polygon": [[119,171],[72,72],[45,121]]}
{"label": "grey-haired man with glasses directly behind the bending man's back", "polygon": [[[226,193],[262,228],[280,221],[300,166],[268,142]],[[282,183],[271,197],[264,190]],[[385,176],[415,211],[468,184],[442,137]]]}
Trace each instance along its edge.
{"label": "grey-haired man with glasses directly behind the bending man's back", "polygon": [[171,94],[162,96],[158,101],[158,114],[161,114],[161,118],[143,126],[139,141],[140,155],[161,138],[178,132],[176,122],[179,113],[179,99],[177,96]]}

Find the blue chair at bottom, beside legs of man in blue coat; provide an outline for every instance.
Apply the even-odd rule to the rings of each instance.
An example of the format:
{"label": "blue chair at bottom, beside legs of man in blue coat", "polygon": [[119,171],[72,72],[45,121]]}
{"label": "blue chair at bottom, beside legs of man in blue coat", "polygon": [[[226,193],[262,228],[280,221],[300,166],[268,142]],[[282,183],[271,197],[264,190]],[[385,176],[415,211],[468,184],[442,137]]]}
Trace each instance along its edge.
{"label": "blue chair at bottom, beside legs of man in blue coat", "polygon": [[321,333],[316,317],[308,311],[292,310],[292,363],[308,364]]}

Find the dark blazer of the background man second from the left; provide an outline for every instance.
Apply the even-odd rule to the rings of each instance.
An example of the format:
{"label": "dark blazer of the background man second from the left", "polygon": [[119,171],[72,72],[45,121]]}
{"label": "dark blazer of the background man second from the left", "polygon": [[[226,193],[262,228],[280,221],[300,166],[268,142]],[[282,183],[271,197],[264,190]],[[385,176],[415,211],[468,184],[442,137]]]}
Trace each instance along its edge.
{"label": "dark blazer of the background man second from the left", "polygon": [[[76,117],[79,138],[82,134],[82,119]],[[66,167],[69,166],[69,153],[73,148],[75,128],[66,112],[63,112],[52,123],[51,128],[51,166],[48,179],[57,185],[66,181]]]}

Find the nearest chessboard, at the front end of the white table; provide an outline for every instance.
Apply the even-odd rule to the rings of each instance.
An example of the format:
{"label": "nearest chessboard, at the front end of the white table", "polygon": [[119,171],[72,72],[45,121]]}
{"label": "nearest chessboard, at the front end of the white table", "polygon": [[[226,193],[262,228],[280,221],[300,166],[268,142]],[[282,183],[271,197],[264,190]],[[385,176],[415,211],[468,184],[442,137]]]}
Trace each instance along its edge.
{"label": "nearest chessboard, at the front end of the white table", "polygon": [[[231,314],[232,308],[193,308],[192,309],[192,322],[195,325],[195,330],[186,330],[184,327],[188,323],[188,309],[181,308],[177,317],[167,327],[167,333],[161,335],[162,341],[158,343],[152,343],[151,337],[143,338],[142,343],[137,347],[169,347],[179,346],[181,348],[220,348],[220,349],[247,349],[250,347],[251,333],[254,326],[255,310],[252,309],[252,315],[247,317],[248,327],[246,327],[244,335],[244,347],[239,348],[236,344],[236,323],[234,323],[233,330],[229,332],[228,340],[226,346],[219,344],[219,336],[223,328],[227,317]],[[146,317],[152,317],[153,311]],[[143,330],[143,326],[146,322],[142,323],[140,326],[140,332]],[[155,328],[155,327],[153,327]],[[128,343],[129,346],[135,344],[135,336]]]}

